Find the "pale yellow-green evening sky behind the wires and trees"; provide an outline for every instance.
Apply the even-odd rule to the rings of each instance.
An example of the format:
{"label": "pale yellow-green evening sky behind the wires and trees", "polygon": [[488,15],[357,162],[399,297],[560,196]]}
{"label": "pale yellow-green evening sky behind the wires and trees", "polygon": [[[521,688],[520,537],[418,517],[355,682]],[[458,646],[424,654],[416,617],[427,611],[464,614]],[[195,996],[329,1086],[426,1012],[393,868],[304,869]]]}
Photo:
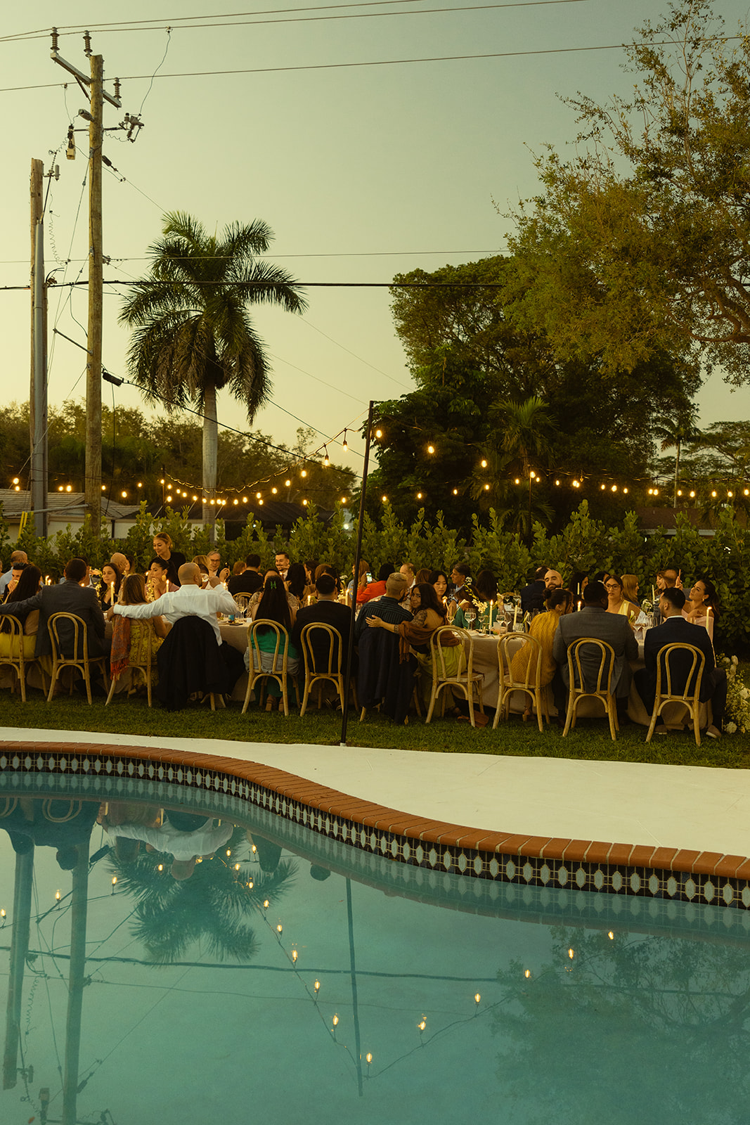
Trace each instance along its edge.
{"label": "pale yellow-green evening sky behind the wires and trees", "polygon": [[[145,127],[137,142],[128,144],[123,134],[112,133],[105,148],[127,181],[105,174],[105,252],[112,258],[106,278],[138,276],[166,209],[187,210],[208,227],[265,219],[275,232],[272,256],[308,282],[388,282],[398,271],[501,252],[508,222],[493,200],[505,209],[532,195],[532,152],[545,142],[561,146],[575,134],[573,115],[558,94],[582,90],[603,99],[614,90],[626,91],[632,81],[620,68],[621,50],[540,52],[621,44],[660,6],[654,0],[441,3],[440,10],[434,10],[436,0],[323,8],[298,0],[295,8],[255,4],[250,12],[219,19],[211,12],[226,14],[231,6],[189,0],[178,19],[173,6],[133,0],[128,24],[121,22],[121,6],[112,3],[39,0],[28,14],[16,8],[6,17],[6,38],[0,40],[6,169],[0,285],[28,279],[30,160],[53,163],[49,150],[64,143],[69,123],[87,105],[70,75],[49,58],[46,28],[57,21],[64,32],[63,19],[67,28],[76,28],[61,35],[63,56],[88,69],[79,27],[91,27],[106,75],[124,80],[123,111],[137,112],[145,97]],[[747,2],[739,0],[716,7],[730,29],[748,15]],[[186,27],[184,17],[191,15],[206,17],[196,24],[223,26]],[[94,20],[112,26],[97,30]],[[137,22],[144,20],[155,22]],[[169,52],[147,93],[148,78],[137,75],[151,75],[159,65],[168,26]],[[37,29],[37,36],[20,42],[8,38]],[[500,53],[503,57],[340,65]],[[162,76],[229,70],[253,73]],[[69,79],[63,91],[61,83]],[[13,87],[44,88],[9,89]],[[108,107],[105,124],[115,125],[120,116]],[[76,138],[85,152],[85,134]],[[51,192],[47,269],[70,255],[65,278],[72,280],[82,266],[85,277],[85,162],[82,155],[66,161],[64,150],[55,160],[61,178]],[[62,269],[56,276],[63,277]],[[20,400],[28,396],[28,294],[0,296],[4,398]],[[293,440],[298,425],[284,411],[328,436],[359,424],[369,398],[412,388],[387,289],[313,288],[308,296],[304,318],[270,309],[256,314],[273,356],[274,405],[265,406],[254,424],[283,441]],[[108,290],[103,359],[124,375],[127,336],[116,323],[118,306],[117,292]],[[52,292],[51,328],[56,324],[84,342],[73,317],[85,325],[85,290]],[[81,397],[83,368],[84,353],[57,338],[51,403]],[[116,392],[116,402],[141,405],[137,393],[126,387]],[[701,420],[744,417],[747,404],[746,389],[731,394],[714,377],[699,397]],[[219,417],[243,428],[228,396],[219,400]],[[331,453],[345,460],[341,450],[336,457],[332,447]],[[352,453],[349,464],[359,469],[361,458]]]}

